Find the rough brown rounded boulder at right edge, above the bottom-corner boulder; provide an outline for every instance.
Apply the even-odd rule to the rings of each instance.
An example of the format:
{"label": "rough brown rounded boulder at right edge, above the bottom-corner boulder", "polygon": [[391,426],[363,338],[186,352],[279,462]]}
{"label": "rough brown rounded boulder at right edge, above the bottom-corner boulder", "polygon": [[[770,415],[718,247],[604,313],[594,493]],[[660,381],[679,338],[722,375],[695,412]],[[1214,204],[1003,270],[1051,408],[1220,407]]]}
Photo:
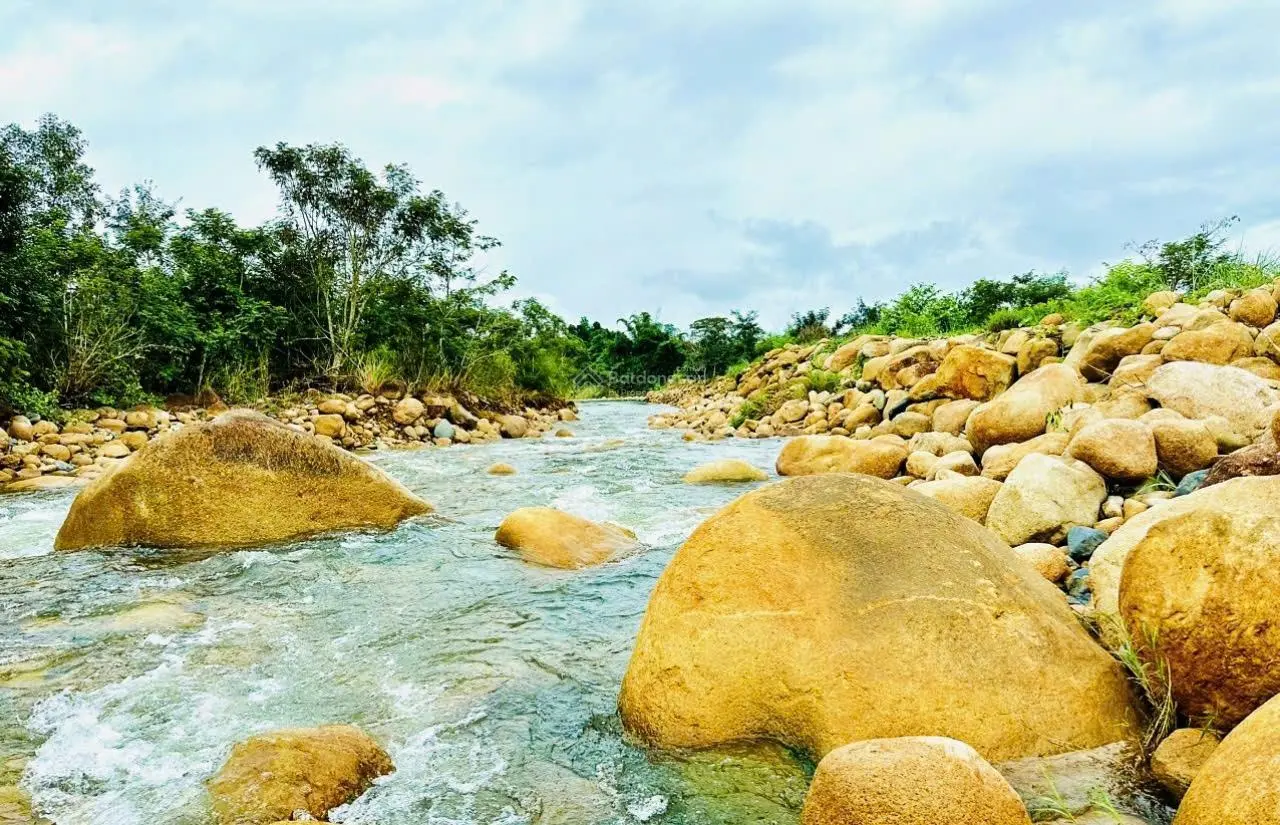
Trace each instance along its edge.
{"label": "rough brown rounded boulder at right edge, above the bottom-corner boulder", "polygon": [[[1240,481],[1249,480],[1204,492]],[[1280,693],[1280,510],[1267,500],[1166,517],[1125,559],[1125,629],[1167,665],[1178,709],[1192,719],[1230,727]]]}

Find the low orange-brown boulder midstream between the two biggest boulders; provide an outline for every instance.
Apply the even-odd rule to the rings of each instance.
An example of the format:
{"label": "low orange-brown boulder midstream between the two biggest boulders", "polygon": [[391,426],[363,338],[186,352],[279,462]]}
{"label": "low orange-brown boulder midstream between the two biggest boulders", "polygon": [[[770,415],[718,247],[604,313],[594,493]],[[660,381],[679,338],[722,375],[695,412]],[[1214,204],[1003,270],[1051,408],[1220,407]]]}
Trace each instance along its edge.
{"label": "low orange-brown boulder midstream between the two biggest boulders", "polygon": [[526,562],[564,569],[603,564],[639,546],[635,535],[622,527],[549,507],[520,508],[502,519],[494,541]]}

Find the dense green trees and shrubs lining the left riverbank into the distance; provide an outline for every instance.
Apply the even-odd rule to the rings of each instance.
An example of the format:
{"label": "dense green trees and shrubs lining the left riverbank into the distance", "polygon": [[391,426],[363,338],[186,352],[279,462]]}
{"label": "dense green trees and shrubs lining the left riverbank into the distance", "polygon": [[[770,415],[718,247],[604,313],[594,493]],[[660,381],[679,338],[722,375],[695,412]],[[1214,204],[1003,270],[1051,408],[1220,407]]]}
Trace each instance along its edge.
{"label": "dense green trees and shrubs lining the left riverbank into the distance", "polygon": [[[646,312],[568,324],[479,263],[498,247],[404,165],[340,145],[259,147],[278,214],[180,215],[150,184],[105,194],[52,115],[0,130],[0,412],[128,405],[211,389],[388,382],[522,393],[643,391],[751,357],[754,315],[687,333]],[[584,380],[595,386],[582,386]]]}

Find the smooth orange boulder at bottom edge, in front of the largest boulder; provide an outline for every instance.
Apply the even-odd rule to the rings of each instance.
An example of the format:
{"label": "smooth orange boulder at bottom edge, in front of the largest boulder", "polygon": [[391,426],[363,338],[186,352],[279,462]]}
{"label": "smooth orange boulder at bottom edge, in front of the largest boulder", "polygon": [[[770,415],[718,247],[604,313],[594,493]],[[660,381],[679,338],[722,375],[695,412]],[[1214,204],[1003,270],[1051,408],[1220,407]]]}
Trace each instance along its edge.
{"label": "smooth orange boulder at bottom edge, in front of the largest boulder", "polygon": [[801,825],[1030,825],[977,751],[943,737],[868,739],[818,762]]}

